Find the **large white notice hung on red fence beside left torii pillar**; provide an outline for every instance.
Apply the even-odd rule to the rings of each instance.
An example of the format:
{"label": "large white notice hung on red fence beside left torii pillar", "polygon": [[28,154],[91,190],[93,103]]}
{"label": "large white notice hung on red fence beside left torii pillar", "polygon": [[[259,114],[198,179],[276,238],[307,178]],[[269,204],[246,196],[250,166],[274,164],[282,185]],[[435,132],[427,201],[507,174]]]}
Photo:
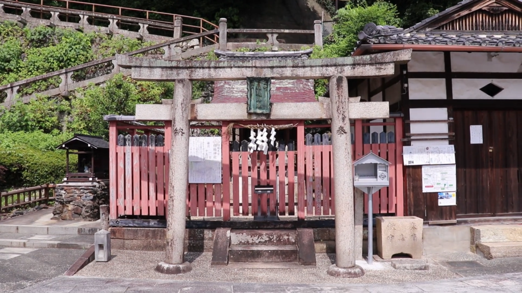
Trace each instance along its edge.
{"label": "large white notice hung on red fence beside left torii pillar", "polygon": [[188,183],[221,183],[221,137],[189,138]]}

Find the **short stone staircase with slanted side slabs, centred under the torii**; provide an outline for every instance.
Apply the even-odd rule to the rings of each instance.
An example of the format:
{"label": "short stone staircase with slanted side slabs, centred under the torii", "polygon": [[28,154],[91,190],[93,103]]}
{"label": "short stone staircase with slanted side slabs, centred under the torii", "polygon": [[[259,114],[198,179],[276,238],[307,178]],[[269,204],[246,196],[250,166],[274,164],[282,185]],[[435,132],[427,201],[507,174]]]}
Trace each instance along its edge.
{"label": "short stone staircase with slanted side slabs, centred under the torii", "polygon": [[312,229],[217,229],[212,265],[250,268],[315,266]]}

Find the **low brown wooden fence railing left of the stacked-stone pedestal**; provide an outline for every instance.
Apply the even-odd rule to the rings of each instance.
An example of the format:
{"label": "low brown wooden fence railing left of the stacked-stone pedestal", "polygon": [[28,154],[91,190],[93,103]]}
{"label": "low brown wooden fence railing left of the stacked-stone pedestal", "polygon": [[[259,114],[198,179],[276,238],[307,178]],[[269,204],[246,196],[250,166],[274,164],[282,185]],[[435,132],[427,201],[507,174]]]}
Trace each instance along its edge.
{"label": "low brown wooden fence railing left of the stacked-stone pedestal", "polygon": [[31,203],[48,203],[54,199],[54,184],[28,187],[0,194],[0,211]]}

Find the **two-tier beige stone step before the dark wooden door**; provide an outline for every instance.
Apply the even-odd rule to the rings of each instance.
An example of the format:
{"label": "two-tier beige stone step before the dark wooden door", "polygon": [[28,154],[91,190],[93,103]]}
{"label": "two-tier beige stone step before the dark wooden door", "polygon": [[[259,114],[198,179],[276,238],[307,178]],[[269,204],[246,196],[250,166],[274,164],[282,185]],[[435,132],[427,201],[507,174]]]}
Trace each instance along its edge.
{"label": "two-tier beige stone step before the dark wooden door", "polygon": [[472,226],[471,250],[489,260],[522,257],[522,224]]}

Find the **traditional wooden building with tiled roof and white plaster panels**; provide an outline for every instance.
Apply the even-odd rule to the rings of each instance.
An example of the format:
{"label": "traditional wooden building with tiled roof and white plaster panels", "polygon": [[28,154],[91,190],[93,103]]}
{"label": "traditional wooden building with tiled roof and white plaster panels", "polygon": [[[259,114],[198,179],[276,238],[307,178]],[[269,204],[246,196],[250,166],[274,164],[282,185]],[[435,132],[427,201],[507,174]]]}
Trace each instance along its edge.
{"label": "traditional wooden building with tiled roof and white plaster panels", "polygon": [[359,38],[355,56],[413,53],[393,77],[353,80],[351,96],[404,113],[405,145],[455,148],[456,205],[439,206],[422,166],[405,166],[405,214],[432,224],[522,215],[522,2],[462,1],[409,29],[370,23]]}

